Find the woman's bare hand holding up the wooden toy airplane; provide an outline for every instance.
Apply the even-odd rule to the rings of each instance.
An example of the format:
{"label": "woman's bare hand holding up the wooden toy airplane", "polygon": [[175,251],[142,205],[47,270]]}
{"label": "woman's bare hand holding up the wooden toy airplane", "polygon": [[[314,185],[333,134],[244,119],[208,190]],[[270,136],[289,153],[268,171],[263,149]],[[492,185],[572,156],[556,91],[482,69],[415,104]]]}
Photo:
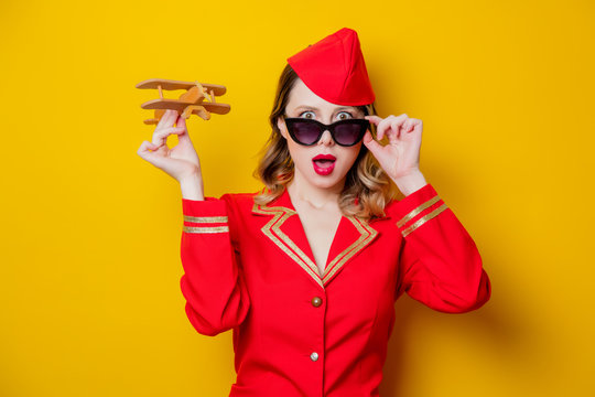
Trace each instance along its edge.
{"label": "woman's bare hand holding up the wooden toy airplane", "polygon": [[[177,144],[170,149],[166,142],[172,133],[177,135]],[[180,183],[187,180],[202,181],[201,161],[190,139],[186,120],[175,110],[165,111],[153,131],[153,141],[143,141],[137,153]]]}

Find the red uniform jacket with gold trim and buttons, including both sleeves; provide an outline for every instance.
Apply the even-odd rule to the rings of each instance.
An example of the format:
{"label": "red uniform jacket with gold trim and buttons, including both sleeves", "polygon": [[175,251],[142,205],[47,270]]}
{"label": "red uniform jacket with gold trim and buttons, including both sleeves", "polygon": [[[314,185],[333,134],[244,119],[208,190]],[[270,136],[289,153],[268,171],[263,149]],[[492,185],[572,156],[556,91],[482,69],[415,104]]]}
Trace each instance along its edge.
{"label": "red uniform jacket with gold trim and buttons, including both sleeves", "polygon": [[482,307],[476,245],[426,184],[369,224],[343,216],[324,275],[285,192],[183,198],[186,314],[204,335],[234,330],[234,397],[378,396],[394,301],[448,313]]}

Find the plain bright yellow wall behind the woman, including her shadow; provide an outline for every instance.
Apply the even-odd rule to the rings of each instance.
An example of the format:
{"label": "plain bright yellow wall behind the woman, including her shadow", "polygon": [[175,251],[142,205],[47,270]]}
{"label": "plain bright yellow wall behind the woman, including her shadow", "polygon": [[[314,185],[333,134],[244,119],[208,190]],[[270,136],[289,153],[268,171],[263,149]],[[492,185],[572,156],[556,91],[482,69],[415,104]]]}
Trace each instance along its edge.
{"label": "plain bright yellow wall behind the woman, including her shadow", "polygon": [[285,58],[348,26],[494,289],[463,315],[399,300],[382,396],[593,396],[594,8],[2,1],[0,395],[228,394],[231,332],[185,318],[181,193],[137,155],[134,85],[226,85],[231,112],[188,128],[207,195],[251,192]]}

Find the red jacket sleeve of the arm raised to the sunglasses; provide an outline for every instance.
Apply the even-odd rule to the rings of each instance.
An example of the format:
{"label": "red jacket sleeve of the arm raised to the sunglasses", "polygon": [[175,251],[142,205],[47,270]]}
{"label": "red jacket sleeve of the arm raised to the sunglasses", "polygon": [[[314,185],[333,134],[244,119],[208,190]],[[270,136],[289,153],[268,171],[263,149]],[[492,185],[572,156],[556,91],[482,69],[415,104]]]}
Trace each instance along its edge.
{"label": "red jacket sleeve of the arm raised to the sunglasses", "polygon": [[491,294],[477,247],[431,184],[396,204],[403,236],[401,283],[411,298],[436,311],[464,313],[480,308]]}

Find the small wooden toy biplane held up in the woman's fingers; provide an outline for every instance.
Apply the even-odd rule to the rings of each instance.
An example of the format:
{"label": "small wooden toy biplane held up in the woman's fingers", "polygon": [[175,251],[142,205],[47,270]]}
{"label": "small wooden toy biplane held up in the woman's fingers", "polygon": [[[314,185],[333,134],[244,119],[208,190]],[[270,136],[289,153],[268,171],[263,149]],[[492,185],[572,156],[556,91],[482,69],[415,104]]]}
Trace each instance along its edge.
{"label": "small wooden toy biplane held up in the woman's fingers", "polygon": [[[210,119],[212,112],[226,115],[231,109],[228,104],[215,101],[216,96],[221,96],[227,90],[221,85],[151,78],[140,82],[136,87],[141,89],[159,89],[158,99],[151,99],[141,105],[143,109],[155,109],[155,117],[144,120],[147,125],[158,124],[167,109],[176,110],[185,119],[191,117],[191,115],[197,115],[205,120]],[[170,99],[163,97],[163,89],[186,89],[186,92],[177,99]]]}

